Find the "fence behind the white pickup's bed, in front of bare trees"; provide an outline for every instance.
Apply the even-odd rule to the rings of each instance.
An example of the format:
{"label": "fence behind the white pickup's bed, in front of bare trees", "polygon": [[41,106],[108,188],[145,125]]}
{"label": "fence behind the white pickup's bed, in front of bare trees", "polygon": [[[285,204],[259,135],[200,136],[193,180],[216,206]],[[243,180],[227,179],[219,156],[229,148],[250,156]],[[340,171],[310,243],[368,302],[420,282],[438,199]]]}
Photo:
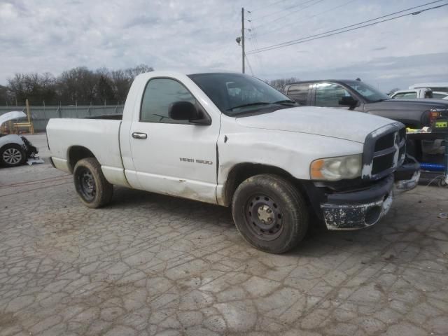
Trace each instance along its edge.
{"label": "fence behind the white pickup's bed, in front of bare trees", "polygon": [[[85,106],[29,106],[34,132],[45,132],[50,118],[85,118],[108,114],[123,114],[124,105],[85,105]],[[23,111],[25,106],[0,106],[0,116],[10,111]],[[25,121],[26,118],[20,121]]]}

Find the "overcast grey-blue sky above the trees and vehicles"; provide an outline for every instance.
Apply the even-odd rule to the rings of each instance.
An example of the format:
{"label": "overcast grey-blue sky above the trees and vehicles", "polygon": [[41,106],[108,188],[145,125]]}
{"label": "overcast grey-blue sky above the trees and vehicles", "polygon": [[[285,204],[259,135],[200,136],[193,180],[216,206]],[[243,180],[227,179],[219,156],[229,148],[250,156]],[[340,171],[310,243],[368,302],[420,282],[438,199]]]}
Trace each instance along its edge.
{"label": "overcast grey-blue sky above the trees and vehicles", "polygon": [[[246,52],[319,34],[430,0],[0,0],[0,84],[16,72],[75,66],[241,71]],[[448,0],[424,6],[428,8]],[[405,12],[409,13],[409,12]],[[255,37],[255,38],[254,38]],[[248,55],[262,79],[360,77],[381,90],[448,81],[448,6]],[[247,69],[251,73],[251,69]]]}

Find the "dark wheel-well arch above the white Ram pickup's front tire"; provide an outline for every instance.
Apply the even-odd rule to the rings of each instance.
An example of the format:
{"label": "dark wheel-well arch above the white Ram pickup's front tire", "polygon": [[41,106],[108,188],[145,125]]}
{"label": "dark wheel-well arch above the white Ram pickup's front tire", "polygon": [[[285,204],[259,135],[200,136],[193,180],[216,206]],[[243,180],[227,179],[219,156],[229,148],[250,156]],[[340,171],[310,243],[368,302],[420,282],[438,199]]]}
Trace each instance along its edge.
{"label": "dark wheel-well arch above the white Ram pickup's front tire", "polygon": [[[286,172],[286,170],[283,170],[279,167],[260,165],[257,163],[241,163],[233,167],[228,174],[224,191],[225,205],[229,205],[232,202],[233,194],[235,193],[235,190],[237,190],[241,182],[251,176],[255,176],[258,174],[275,174],[283,176],[285,179],[293,183],[294,186],[299,188],[301,192],[304,191],[303,187],[301,186],[300,180],[295,179],[295,177]],[[303,195],[307,196],[306,193],[303,193]]]}

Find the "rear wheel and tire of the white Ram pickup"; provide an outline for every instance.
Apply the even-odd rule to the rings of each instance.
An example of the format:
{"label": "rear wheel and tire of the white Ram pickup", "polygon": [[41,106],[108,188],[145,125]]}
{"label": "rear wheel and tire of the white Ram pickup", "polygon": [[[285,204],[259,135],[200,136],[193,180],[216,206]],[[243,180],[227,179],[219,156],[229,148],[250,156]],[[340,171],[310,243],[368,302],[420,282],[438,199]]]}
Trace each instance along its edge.
{"label": "rear wheel and tire of the white Ram pickup", "polygon": [[112,200],[113,185],[106,180],[95,158],[85,158],[76,163],[73,183],[80,201],[86,207],[104,207]]}

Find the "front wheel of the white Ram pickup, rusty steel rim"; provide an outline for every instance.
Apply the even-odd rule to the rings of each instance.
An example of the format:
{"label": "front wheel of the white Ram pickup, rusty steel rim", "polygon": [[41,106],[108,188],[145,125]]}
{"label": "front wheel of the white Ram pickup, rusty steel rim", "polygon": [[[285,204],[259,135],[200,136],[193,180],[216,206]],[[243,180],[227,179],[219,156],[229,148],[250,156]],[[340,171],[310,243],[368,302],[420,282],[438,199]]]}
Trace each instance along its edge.
{"label": "front wheel of the white Ram pickup, rusty steel rim", "polygon": [[309,223],[300,192],[288,180],[272,174],[252,176],[238,186],[232,216],[244,239],[267,253],[295,248]]}

